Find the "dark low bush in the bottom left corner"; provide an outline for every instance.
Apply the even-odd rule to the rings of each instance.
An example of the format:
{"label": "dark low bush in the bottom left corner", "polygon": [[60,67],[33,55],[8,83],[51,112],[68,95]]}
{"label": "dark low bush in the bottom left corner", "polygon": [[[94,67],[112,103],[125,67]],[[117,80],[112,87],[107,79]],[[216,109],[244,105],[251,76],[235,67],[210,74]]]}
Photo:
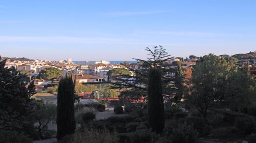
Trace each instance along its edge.
{"label": "dark low bush in the bottom left corner", "polygon": [[0,131],[0,142],[3,143],[32,143],[32,139],[28,138],[24,133],[17,131]]}

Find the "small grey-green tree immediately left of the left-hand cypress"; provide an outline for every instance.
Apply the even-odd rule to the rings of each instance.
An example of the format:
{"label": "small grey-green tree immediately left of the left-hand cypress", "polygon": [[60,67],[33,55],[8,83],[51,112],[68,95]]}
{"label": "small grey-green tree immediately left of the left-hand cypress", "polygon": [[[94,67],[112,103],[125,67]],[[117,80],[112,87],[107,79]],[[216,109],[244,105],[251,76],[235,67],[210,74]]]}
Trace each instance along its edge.
{"label": "small grey-green tree immediately left of the left-hand cypress", "polygon": [[38,135],[43,139],[48,124],[51,121],[56,121],[57,107],[54,104],[44,104],[43,102],[36,101],[36,109],[34,112],[34,119],[39,124],[36,128]]}

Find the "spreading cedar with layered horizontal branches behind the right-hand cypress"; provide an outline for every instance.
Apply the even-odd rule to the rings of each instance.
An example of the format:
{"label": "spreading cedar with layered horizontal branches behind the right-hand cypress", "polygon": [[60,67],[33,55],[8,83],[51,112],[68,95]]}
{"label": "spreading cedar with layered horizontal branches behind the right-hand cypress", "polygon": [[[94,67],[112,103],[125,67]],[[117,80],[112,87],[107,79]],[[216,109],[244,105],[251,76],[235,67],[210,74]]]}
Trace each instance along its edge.
{"label": "spreading cedar with layered horizontal branches behind the right-hand cypress", "polygon": [[[146,48],[151,55],[147,60],[135,59],[138,61],[137,68],[130,68],[130,72],[133,75],[120,74],[115,78],[116,82],[113,83],[113,89],[124,89],[120,94],[120,98],[128,99],[141,99],[141,97],[147,96],[147,78],[148,70],[155,67],[162,71],[163,80],[163,94],[165,98],[173,98],[173,81],[174,77],[172,73],[175,73],[177,69],[169,68],[168,61],[173,59],[170,54],[163,49],[162,46],[155,46],[153,49]],[[131,97],[133,96],[133,97]]]}

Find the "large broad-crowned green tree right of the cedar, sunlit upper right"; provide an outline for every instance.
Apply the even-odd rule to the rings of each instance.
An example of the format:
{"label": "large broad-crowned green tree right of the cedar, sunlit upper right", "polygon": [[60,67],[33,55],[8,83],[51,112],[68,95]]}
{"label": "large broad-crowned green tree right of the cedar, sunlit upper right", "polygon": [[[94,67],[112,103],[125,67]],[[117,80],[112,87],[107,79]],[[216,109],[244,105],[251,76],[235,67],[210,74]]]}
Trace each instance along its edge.
{"label": "large broad-crowned green tree right of the cedar, sunlit upper right", "polygon": [[205,119],[207,109],[228,96],[227,80],[234,70],[233,64],[214,54],[205,55],[193,66],[190,101]]}

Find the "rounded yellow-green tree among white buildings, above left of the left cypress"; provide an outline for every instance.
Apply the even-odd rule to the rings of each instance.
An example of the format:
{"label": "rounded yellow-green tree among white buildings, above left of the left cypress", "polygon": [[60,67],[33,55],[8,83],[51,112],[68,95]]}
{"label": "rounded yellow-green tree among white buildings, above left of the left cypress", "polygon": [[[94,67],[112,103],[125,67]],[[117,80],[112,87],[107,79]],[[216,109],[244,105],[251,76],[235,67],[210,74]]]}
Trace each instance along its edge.
{"label": "rounded yellow-green tree among white buildings, above left of the left cypress", "polygon": [[46,68],[41,70],[38,74],[38,78],[47,79],[47,80],[54,80],[62,75],[62,71],[58,68]]}

